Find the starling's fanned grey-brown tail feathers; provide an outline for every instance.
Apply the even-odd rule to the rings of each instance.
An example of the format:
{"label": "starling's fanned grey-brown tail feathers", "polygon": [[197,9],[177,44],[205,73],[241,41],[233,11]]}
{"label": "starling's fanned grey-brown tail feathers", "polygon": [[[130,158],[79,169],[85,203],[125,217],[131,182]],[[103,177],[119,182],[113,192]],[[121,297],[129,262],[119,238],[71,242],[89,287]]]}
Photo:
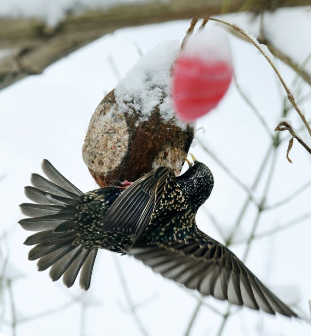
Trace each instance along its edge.
{"label": "starling's fanned grey-brown tail feathers", "polygon": [[35,245],[29,252],[29,260],[38,260],[43,271],[50,266],[53,281],[63,276],[70,287],[80,271],[80,286],[87,290],[97,248],[79,244],[77,224],[73,221],[82,203],[83,193],[62,176],[48,160],[43,160],[42,170],[49,178],[32,174],[32,187],[25,187],[26,196],[35,203],[23,203],[21,211],[29,216],[18,223],[25,230],[37,231],[29,236],[25,245]]}

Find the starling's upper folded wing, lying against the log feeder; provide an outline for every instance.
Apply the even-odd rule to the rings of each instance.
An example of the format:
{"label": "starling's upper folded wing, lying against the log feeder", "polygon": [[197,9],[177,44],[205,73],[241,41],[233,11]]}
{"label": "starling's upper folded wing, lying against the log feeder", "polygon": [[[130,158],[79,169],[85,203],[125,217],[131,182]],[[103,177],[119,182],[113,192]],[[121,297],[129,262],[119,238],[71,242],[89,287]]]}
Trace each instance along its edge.
{"label": "starling's upper folded wing, lying against the log feeder", "polygon": [[105,213],[103,229],[109,232],[135,234],[135,240],[149,224],[160,202],[167,181],[174,177],[169,168],[160,167],[136,180]]}

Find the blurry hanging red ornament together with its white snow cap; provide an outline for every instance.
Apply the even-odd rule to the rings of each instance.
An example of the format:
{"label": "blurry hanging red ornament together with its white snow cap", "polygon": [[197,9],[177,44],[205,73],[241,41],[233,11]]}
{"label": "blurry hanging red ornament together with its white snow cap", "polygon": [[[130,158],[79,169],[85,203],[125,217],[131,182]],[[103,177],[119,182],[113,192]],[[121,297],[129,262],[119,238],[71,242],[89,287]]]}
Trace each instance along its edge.
{"label": "blurry hanging red ornament together with its white snow cap", "polygon": [[173,68],[173,104],[186,122],[216,107],[233,75],[229,41],[221,30],[201,30],[192,35]]}

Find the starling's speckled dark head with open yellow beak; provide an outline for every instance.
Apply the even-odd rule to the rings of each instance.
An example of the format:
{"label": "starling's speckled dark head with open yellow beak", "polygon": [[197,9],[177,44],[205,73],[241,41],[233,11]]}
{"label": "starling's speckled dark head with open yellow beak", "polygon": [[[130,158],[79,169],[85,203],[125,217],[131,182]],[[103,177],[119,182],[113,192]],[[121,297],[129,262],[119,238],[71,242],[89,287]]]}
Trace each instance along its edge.
{"label": "starling's speckled dark head with open yellow beak", "polygon": [[209,197],[214,186],[214,177],[204,163],[199,162],[192,154],[190,155],[193,163],[187,159],[189,169],[176,180],[187,202],[193,209],[198,209]]}

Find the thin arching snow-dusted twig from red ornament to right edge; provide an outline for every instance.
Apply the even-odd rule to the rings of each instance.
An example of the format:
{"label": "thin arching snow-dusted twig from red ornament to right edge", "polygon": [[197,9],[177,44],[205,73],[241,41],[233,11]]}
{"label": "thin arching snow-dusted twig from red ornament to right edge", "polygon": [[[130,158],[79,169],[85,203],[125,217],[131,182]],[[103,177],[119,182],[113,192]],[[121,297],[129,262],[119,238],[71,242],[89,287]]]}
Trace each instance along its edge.
{"label": "thin arching snow-dusted twig from red ornament to right edge", "polygon": [[240,28],[239,26],[237,26],[236,24],[232,24],[229,23],[227,21],[224,20],[220,20],[218,18],[209,18],[210,20],[225,24],[226,26],[229,26],[231,28],[233,28],[234,30],[236,30],[237,32],[239,32],[240,34],[242,34],[243,36],[246,37],[247,40],[249,40],[258,50],[259,52],[265,57],[265,59],[269,62],[269,64],[271,65],[272,69],[276,72],[277,77],[279,78],[280,82],[282,83],[283,88],[285,89],[286,93],[287,93],[287,98],[288,100],[291,102],[291,104],[294,106],[294,109],[297,111],[299,117],[301,118],[301,120],[303,121],[303,123],[305,124],[310,136],[311,136],[311,127],[308,124],[306,117],[304,116],[304,114],[300,111],[300,108],[298,107],[294,95],[291,92],[291,90],[288,88],[288,86],[286,85],[286,83],[284,82],[283,77],[280,75],[279,71],[276,69],[276,66],[274,65],[274,63],[272,62],[272,60],[270,59],[270,57],[263,51],[263,49],[260,46],[260,43],[257,40],[254,40],[254,38],[252,38],[248,33],[246,33],[242,28]]}

